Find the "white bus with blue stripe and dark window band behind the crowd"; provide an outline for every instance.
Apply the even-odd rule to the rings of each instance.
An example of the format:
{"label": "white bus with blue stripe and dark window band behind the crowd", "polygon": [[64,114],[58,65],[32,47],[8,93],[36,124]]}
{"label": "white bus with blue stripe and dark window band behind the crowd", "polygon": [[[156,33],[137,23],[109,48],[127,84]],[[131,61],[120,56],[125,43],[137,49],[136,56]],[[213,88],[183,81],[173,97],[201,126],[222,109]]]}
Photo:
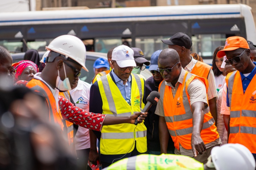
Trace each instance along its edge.
{"label": "white bus with blue stripe and dark window band behind the crowd", "polygon": [[[127,41],[143,50],[147,59],[167,48],[162,39],[177,32],[188,34],[191,51],[204,60],[229,36],[242,36],[256,44],[251,8],[243,4],[187,5],[83,10],[47,10],[1,13],[0,45],[10,51],[45,50],[53,38],[76,35],[88,51],[106,52]],[[209,63],[209,61],[207,63]]]}

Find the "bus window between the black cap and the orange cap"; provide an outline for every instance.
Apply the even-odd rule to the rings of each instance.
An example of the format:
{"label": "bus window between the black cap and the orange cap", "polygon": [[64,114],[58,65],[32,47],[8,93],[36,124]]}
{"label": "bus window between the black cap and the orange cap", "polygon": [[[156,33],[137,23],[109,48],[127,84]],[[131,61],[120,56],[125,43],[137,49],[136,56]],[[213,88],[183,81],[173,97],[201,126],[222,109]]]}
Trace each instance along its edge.
{"label": "bus window between the black cap and the orange cap", "polygon": [[225,34],[197,34],[191,37],[191,51],[196,52],[203,59],[212,59],[214,50],[225,45]]}

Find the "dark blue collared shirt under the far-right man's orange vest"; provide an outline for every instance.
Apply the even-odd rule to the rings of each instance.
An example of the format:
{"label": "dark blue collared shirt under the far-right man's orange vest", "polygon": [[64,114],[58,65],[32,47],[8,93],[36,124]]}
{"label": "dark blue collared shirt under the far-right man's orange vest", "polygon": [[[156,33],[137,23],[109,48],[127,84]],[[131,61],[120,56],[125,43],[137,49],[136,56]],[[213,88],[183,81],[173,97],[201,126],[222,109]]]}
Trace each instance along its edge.
{"label": "dark blue collared shirt under the far-right man's orange vest", "polygon": [[[256,65],[256,62],[253,62],[254,65]],[[247,87],[249,86],[252,78],[255,76],[256,74],[256,66],[254,67],[254,69],[251,71],[251,73],[249,74],[249,76],[245,77],[243,75],[243,73],[239,72],[240,76],[241,76],[241,80],[242,80],[242,85],[243,85],[243,92],[245,93],[245,90],[247,89]],[[229,91],[228,91],[228,87],[227,87],[227,106],[229,106]]]}

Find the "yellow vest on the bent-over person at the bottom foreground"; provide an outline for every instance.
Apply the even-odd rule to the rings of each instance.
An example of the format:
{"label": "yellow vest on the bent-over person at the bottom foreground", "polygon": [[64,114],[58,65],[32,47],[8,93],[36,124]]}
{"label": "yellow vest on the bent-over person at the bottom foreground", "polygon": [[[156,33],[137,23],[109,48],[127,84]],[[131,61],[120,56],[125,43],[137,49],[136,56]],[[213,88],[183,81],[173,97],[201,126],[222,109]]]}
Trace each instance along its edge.
{"label": "yellow vest on the bent-over person at the bottom foreground", "polygon": [[204,170],[204,164],[184,155],[142,154],[113,163],[107,170]]}

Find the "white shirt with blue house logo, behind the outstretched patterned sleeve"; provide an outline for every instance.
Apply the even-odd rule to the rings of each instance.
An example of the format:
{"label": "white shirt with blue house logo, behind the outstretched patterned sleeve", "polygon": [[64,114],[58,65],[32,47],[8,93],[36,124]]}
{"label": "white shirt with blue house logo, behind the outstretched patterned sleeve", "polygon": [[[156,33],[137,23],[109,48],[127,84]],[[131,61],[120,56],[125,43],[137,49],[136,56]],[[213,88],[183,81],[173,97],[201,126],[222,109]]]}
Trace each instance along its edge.
{"label": "white shirt with blue house logo, behind the outstretched patterned sleeve", "polygon": [[[89,112],[90,88],[90,84],[79,79],[77,87],[69,91],[76,106],[87,112]],[[76,150],[90,148],[89,129],[79,126],[74,141]]]}

